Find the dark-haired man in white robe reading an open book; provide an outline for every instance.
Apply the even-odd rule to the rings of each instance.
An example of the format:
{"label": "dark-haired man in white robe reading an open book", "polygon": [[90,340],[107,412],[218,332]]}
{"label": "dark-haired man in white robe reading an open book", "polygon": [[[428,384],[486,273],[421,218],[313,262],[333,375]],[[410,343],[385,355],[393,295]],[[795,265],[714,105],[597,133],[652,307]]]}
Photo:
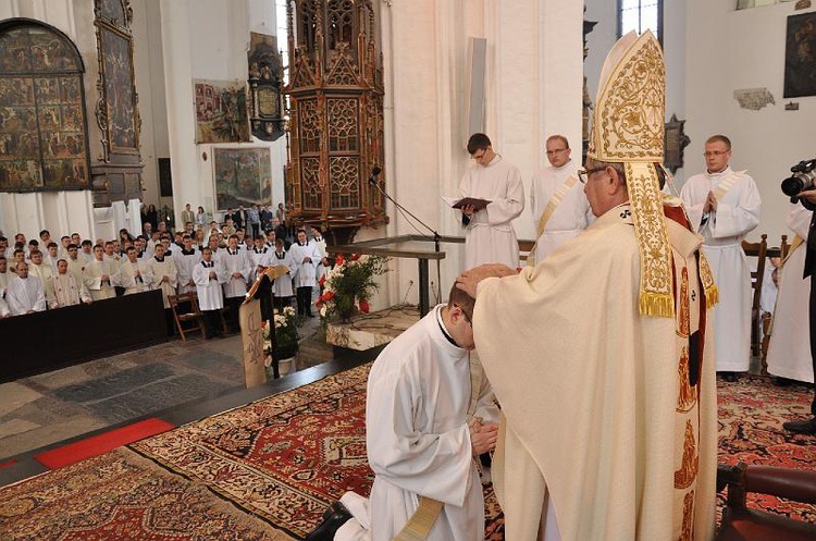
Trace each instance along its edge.
{"label": "dark-haired man in white robe reading an open book", "polygon": [[468,152],[477,164],[465,173],[459,197],[491,201],[486,208],[462,209],[465,225],[465,268],[483,263],[519,266],[519,245],[512,220],[524,210],[524,186],[516,165],[493,151],[484,134],[474,134]]}

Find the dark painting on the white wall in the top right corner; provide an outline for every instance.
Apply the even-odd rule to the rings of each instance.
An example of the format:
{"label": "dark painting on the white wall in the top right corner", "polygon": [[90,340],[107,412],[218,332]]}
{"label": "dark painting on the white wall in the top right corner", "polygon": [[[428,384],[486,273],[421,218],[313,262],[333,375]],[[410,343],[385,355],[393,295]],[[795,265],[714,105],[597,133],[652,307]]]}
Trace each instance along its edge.
{"label": "dark painting on the white wall in the top right corner", "polygon": [[788,17],[784,98],[816,96],[816,12]]}

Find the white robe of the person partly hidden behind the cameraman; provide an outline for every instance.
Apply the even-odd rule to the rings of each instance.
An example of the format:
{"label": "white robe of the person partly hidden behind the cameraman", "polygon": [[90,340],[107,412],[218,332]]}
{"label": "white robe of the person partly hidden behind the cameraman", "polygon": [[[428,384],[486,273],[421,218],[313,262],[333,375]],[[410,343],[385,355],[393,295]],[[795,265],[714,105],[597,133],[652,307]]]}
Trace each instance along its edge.
{"label": "white robe of the person partly hidden behind the cameraman", "polygon": [[796,236],[779,269],[779,295],[767,356],[769,373],[808,383],[814,382],[807,307],[811,276],[802,276],[812,216],[801,204],[791,205],[788,212],[786,223]]}

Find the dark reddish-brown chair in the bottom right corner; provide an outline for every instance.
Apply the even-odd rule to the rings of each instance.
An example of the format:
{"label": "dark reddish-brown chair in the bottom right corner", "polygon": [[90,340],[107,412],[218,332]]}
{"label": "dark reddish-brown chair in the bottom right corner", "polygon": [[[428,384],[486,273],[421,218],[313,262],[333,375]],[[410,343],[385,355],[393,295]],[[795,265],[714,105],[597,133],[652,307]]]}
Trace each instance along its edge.
{"label": "dark reddish-brown chair in the bottom right corner", "polygon": [[816,525],[751,509],[745,505],[749,492],[769,494],[794,502],[816,504],[816,471],[774,466],[717,467],[717,492],[728,488],[717,541],[804,541],[816,539]]}

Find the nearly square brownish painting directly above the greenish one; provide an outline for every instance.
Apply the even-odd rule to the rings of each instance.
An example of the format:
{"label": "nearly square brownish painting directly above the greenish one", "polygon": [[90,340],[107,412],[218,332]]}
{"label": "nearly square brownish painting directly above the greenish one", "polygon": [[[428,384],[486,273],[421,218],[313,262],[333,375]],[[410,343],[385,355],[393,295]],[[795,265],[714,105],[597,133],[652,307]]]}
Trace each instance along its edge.
{"label": "nearly square brownish painting directly above the greenish one", "polygon": [[196,143],[249,140],[247,89],[240,82],[195,81]]}

